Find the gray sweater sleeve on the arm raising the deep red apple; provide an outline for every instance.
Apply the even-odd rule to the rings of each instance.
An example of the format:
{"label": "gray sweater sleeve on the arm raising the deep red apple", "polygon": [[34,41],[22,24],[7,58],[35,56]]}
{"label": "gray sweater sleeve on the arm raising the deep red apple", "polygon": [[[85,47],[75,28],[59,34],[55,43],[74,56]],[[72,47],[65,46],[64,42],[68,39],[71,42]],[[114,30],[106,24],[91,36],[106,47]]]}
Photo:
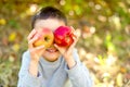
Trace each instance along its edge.
{"label": "gray sweater sleeve on the arm raising the deep red apple", "polygon": [[68,69],[66,65],[65,70],[68,73],[68,77],[73,84],[73,87],[93,87],[92,78],[89,74],[88,69],[80,62],[77,51],[74,51],[74,58],[76,65],[73,69]]}

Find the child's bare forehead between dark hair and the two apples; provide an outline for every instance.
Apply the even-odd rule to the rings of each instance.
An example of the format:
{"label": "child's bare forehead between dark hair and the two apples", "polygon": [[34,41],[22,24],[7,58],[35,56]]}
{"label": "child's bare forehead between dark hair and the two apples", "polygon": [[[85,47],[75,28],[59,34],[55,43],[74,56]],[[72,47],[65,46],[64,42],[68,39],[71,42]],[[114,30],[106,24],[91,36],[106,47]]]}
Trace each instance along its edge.
{"label": "child's bare forehead between dark hair and the two apples", "polygon": [[65,23],[55,18],[37,20],[35,23],[35,29],[47,27],[55,30],[58,26],[65,26]]}

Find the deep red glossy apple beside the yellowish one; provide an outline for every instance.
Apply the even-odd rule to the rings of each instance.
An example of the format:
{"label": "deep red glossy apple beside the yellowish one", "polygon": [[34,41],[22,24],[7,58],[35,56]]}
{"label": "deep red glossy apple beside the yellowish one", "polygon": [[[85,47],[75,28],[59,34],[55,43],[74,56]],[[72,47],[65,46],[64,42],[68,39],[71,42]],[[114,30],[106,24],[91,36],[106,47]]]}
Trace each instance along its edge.
{"label": "deep red glossy apple beside the yellowish one", "polygon": [[61,47],[69,47],[73,42],[73,32],[68,26],[60,26],[54,30],[54,42]]}

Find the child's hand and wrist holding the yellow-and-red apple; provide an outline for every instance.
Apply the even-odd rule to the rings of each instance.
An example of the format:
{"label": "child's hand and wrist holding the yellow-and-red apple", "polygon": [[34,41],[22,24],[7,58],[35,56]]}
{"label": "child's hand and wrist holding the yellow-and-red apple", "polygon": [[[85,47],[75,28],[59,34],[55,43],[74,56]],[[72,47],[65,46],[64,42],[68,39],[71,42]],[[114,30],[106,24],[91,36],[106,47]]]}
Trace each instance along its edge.
{"label": "child's hand and wrist holding the yellow-and-red apple", "polygon": [[34,37],[36,35],[36,29],[32,29],[28,35],[28,49],[30,52],[31,61],[38,62],[42,52],[44,51],[44,46],[34,47],[34,42],[38,40],[38,37]]}

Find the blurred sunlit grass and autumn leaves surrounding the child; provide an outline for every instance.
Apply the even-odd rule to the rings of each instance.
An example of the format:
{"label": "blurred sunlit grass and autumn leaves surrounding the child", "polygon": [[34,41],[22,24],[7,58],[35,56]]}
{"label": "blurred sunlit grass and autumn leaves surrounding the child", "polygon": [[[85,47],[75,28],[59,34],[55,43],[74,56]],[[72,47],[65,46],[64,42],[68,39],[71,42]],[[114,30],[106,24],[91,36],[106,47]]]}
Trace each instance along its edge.
{"label": "blurred sunlit grass and autumn leaves surrounding the child", "polygon": [[16,87],[31,16],[47,5],[79,30],[76,47],[94,87],[130,87],[130,0],[0,0],[0,87]]}

